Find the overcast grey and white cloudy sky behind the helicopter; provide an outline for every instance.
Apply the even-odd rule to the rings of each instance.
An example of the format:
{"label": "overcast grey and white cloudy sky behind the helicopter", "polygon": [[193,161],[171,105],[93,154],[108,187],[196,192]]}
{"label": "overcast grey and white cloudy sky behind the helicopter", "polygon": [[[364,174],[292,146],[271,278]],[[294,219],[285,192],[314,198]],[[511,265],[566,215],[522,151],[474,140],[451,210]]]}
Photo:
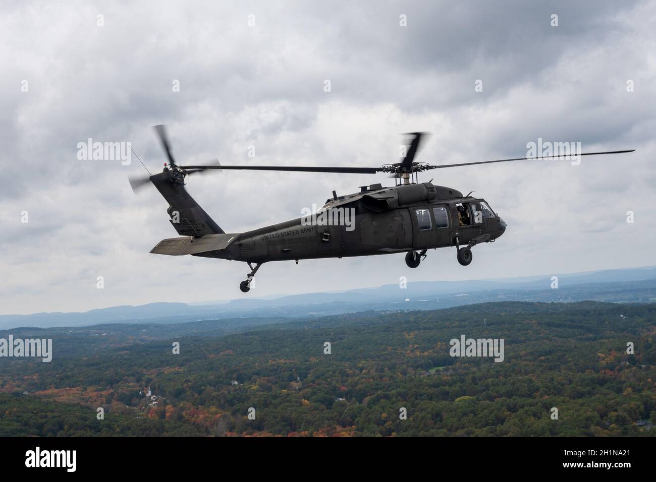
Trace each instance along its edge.
{"label": "overcast grey and white cloudy sky behind the helicopter", "polygon": [[[656,265],[654,1],[217,4],[0,7],[0,314]],[[159,171],[159,123],[180,163],[378,167],[413,131],[432,133],[416,158],[432,164],[520,157],[538,138],[637,151],[426,172],[420,181],[476,191],[508,222],[470,266],[455,248],[416,270],[403,254],[276,262],[242,294],[244,263],[148,253],[176,232],[154,186],[131,190],[127,177],[145,172],[136,159],[77,159],[88,138],[131,142]],[[188,191],[226,232],[298,217],[332,190],[393,184],[195,177]]]}

